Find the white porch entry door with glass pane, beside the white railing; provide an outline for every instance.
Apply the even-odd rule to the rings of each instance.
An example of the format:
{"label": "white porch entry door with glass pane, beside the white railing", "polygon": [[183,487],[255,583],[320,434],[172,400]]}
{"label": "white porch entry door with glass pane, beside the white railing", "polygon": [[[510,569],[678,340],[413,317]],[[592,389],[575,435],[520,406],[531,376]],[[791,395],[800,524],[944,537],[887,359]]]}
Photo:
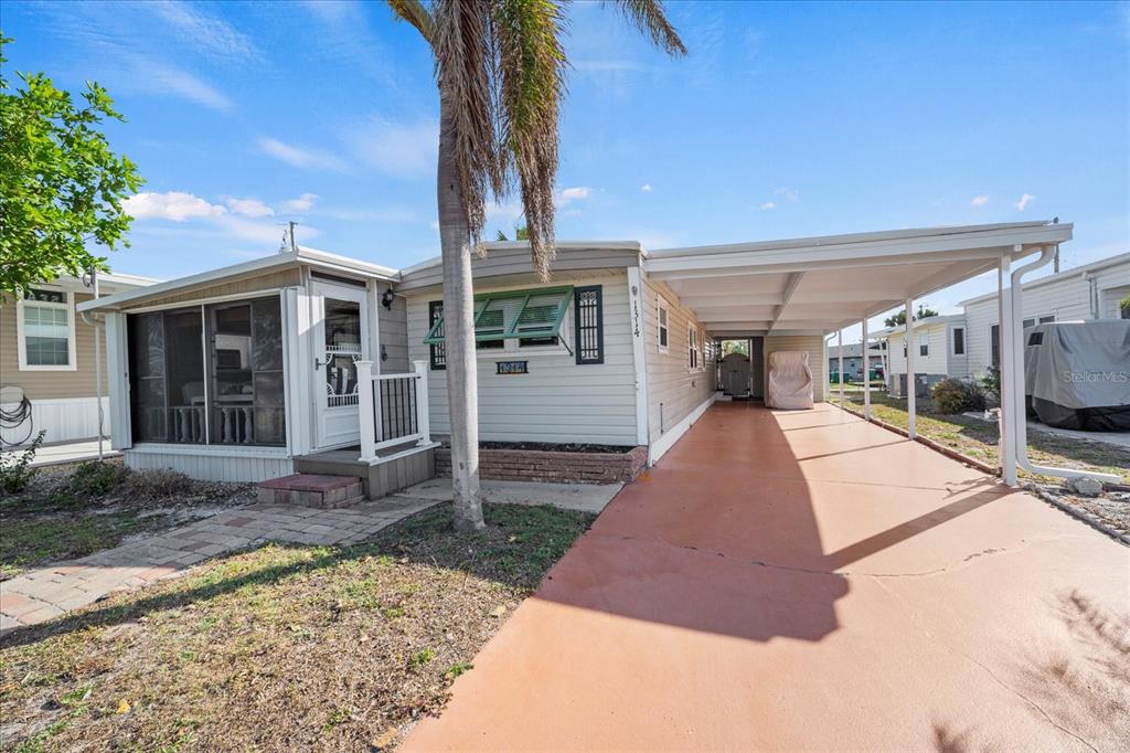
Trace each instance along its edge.
{"label": "white porch entry door with glass pane, beside the white railing", "polygon": [[318,280],[312,293],[318,449],[358,444],[357,362],[368,358],[366,292]]}

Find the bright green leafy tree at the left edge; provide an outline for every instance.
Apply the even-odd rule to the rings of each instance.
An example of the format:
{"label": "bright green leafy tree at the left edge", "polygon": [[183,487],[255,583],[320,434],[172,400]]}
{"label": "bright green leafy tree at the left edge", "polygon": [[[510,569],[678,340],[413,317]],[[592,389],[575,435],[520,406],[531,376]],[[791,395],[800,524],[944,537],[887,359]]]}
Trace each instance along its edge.
{"label": "bright green leafy tree at the left edge", "polygon": [[[0,34],[0,66],[7,62]],[[106,269],[97,246],[128,246],[122,200],[141,185],[137,166],[110,148],[105,119],[124,120],[106,90],[87,81],[85,106],[44,73],[0,73],[0,293],[59,275]]]}

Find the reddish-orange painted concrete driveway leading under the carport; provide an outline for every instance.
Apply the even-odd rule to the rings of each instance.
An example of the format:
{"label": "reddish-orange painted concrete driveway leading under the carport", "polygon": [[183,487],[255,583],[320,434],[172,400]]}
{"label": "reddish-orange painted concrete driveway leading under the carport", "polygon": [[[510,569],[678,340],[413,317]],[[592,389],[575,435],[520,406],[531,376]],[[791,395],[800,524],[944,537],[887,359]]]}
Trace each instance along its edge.
{"label": "reddish-orange painted concrete driveway leading under the carport", "polygon": [[405,750],[1125,750],[1130,549],[829,406],[719,404]]}

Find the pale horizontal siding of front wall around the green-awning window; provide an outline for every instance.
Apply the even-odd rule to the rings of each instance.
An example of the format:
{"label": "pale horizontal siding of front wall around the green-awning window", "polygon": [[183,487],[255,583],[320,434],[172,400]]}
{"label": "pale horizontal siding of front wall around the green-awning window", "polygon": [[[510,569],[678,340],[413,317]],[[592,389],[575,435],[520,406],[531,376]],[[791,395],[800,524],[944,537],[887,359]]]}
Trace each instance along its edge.
{"label": "pale horizontal siding of front wall around the green-awning window", "polygon": [[[635,372],[628,320],[627,275],[573,280],[558,275],[550,286],[600,285],[605,363],[577,365],[573,355],[508,354],[478,358],[479,439],[484,442],[594,442],[635,444]],[[477,292],[489,291],[480,283]],[[428,302],[408,298],[408,349],[427,361]],[[498,361],[529,361],[529,374],[498,375]],[[434,434],[450,433],[445,371],[428,372]]]}

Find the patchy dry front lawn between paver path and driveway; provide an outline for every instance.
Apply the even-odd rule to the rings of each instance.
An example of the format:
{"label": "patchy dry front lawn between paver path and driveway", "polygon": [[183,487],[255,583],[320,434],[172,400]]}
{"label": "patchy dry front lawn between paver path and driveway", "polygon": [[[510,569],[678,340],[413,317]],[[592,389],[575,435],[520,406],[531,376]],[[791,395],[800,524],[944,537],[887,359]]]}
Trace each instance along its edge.
{"label": "patchy dry front lawn between paver path and driveway", "polygon": [[[268,545],[0,639],[3,750],[386,750],[593,516],[433,508],[348,547]],[[23,747],[21,747],[23,746]]]}

